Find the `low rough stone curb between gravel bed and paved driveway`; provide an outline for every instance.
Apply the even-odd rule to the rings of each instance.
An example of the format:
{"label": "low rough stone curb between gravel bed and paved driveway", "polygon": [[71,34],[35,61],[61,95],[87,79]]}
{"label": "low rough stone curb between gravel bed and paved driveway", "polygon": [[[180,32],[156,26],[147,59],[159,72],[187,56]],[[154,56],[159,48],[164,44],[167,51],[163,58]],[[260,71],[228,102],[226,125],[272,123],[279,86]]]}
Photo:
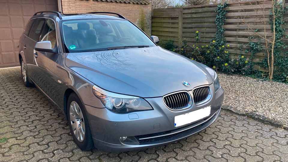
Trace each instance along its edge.
{"label": "low rough stone curb between gravel bed and paved driveway", "polygon": [[283,122],[267,118],[267,117],[265,117],[263,115],[259,115],[259,114],[256,114],[254,112],[244,112],[244,111],[236,109],[235,107],[228,106],[228,105],[223,105],[222,108],[225,109],[225,110],[229,110],[229,111],[231,111],[231,112],[233,112],[233,113],[235,113],[237,115],[247,116],[248,118],[257,120],[259,122],[262,122],[262,123],[265,123],[265,124],[269,124],[269,125],[273,125],[275,127],[288,130],[288,127],[284,127],[283,126]]}

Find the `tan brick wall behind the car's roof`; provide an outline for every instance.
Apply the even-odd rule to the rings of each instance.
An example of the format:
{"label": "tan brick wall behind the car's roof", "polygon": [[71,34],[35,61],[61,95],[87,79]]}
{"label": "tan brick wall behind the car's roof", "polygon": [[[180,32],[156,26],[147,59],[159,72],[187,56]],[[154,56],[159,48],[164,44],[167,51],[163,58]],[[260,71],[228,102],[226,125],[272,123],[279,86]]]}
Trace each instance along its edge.
{"label": "tan brick wall behind the car's roof", "polygon": [[[151,35],[151,4],[131,4],[94,0],[61,0],[62,12],[116,12],[139,26],[147,35]],[[144,23],[143,23],[144,20]]]}

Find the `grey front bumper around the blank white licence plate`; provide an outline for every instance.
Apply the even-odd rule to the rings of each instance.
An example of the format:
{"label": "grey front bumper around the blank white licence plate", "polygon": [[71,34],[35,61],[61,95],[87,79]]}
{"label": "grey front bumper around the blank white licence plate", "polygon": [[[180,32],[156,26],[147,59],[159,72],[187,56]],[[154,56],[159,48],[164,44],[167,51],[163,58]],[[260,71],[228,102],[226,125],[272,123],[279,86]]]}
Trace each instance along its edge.
{"label": "grey front bumper around the blank white licence plate", "polygon": [[[211,125],[219,116],[224,91],[217,90],[205,104],[195,104],[186,110],[171,111],[162,98],[146,98],[154,110],[125,114],[114,113],[106,108],[85,106],[95,147],[107,152],[125,152],[164,145],[184,139]],[[211,113],[205,119],[174,128],[174,117],[211,105]],[[137,143],[121,141],[119,137],[134,139]]]}

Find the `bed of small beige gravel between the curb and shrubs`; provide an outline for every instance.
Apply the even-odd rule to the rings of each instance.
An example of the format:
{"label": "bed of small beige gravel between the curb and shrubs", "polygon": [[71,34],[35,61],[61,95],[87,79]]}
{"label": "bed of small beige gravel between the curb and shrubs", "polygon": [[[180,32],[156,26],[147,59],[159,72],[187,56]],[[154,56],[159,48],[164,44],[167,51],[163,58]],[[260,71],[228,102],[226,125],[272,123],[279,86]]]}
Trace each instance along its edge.
{"label": "bed of small beige gravel between the curb and shrubs", "polygon": [[224,105],[254,112],[288,127],[288,85],[247,76],[218,74],[225,90]]}

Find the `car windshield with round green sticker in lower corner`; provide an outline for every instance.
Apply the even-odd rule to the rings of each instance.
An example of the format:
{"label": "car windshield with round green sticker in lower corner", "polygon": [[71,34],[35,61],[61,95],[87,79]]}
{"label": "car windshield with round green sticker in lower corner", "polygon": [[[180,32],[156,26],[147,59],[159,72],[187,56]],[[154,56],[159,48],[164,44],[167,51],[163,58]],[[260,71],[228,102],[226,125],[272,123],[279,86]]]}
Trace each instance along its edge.
{"label": "car windshield with round green sticker in lower corner", "polygon": [[64,43],[69,52],[156,46],[127,20],[84,19],[64,21]]}

